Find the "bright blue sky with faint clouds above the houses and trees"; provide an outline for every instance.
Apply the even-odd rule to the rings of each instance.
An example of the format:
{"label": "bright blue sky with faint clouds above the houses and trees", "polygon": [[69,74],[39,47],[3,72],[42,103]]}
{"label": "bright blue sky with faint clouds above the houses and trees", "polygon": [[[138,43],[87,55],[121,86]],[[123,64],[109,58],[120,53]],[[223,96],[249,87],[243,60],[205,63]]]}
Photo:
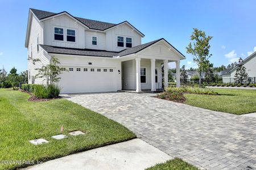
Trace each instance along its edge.
{"label": "bright blue sky with faint clouds above the houses and trees", "polygon": [[[144,35],[142,43],[164,37],[187,59],[181,65],[195,67],[185,46],[193,28],[213,36],[210,61],[227,65],[256,50],[256,1],[13,1],[1,0],[0,67],[27,69],[24,48],[28,9],[68,11],[73,16],[120,23],[128,20]],[[172,66],[172,65],[171,65]]]}

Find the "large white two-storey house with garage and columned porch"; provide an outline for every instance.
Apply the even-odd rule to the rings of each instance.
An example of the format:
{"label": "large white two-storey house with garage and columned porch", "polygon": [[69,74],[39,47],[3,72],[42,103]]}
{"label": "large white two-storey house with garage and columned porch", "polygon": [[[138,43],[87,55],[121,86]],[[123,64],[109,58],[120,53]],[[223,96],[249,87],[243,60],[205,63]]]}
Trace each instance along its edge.
{"label": "large white two-storey house with garage and columned porch", "polygon": [[28,57],[41,62],[34,65],[28,60],[28,83],[45,83],[35,77],[35,69],[55,56],[60,66],[69,70],[60,75],[61,93],[155,91],[162,88],[162,63],[167,85],[168,62],[176,62],[179,72],[180,59],[185,57],[164,39],[141,44],[142,37],[143,33],[127,21],[112,24],[78,18],[66,11],[55,14],[30,9],[25,46]]}

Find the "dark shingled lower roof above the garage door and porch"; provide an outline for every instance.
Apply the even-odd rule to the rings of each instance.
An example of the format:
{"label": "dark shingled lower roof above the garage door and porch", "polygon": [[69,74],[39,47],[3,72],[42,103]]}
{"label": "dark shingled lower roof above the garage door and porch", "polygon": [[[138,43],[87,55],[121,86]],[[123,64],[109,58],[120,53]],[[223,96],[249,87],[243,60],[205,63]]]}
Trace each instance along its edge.
{"label": "dark shingled lower roof above the garage door and porch", "polygon": [[[52,54],[71,54],[71,55],[77,55],[77,56],[96,56],[96,57],[118,57],[118,56],[123,57],[123,56],[127,56],[129,54],[138,53],[141,50],[147,48],[148,46],[151,46],[161,40],[164,40],[164,39],[158,39],[155,41],[147,42],[146,44],[141,44],[141,45],[134,46],[132,48],[127,48],[127,49],[122,50],[121,52],[110,52],[107,50],[96,50],[96,49],[64,48],[64,47],[60,47],[60,46],[49,46],[49,45],[42,45],[42,44],[40,44],[40,46],[44,50],[46,50],[47,53],[52,53]],[[166,41],[166,40],[164,40],[164,41]],[[167,42],[167,43],[170,44],[169,42]],[[181,56],[183,56],[183,54],[181,54],[178,50],[177,50],[177,52]],[[183,57],[185,58],[185,56],[183,56]]]}

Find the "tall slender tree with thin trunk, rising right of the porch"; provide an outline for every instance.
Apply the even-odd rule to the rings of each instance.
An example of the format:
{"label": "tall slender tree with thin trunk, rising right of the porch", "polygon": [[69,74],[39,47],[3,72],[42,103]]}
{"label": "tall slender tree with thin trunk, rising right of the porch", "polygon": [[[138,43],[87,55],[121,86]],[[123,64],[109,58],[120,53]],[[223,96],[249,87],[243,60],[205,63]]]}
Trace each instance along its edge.
{"label": "tall slender tree with thin trunk, rising right of the porch", "polygon": [[212,36],[206,36],[204,31],[201,31],[197,28],[193,28],[191,35],[191,42],[189,42],[186,47],[187,53],[193,55],[193,61],[198,66],[199,71],[199,86],[201,86],[201,73],[207,69],[206,62],[212,56],[209,54],[209,41],[212,39]]}

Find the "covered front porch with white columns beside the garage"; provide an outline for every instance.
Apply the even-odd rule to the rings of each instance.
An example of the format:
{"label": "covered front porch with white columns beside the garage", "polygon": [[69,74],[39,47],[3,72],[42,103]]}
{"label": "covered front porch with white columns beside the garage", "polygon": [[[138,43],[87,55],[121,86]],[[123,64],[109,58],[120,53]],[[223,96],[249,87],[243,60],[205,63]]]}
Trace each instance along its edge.
{"label": "covered front porch with white columns beside the garage", "polygon": [[[168,62],[176,63],[176,84],[180,86],[180,61],[139,58],[122,61],[122,90],[159,91],[168,86]],[[163,73],[162,73],[163,67]]]}

